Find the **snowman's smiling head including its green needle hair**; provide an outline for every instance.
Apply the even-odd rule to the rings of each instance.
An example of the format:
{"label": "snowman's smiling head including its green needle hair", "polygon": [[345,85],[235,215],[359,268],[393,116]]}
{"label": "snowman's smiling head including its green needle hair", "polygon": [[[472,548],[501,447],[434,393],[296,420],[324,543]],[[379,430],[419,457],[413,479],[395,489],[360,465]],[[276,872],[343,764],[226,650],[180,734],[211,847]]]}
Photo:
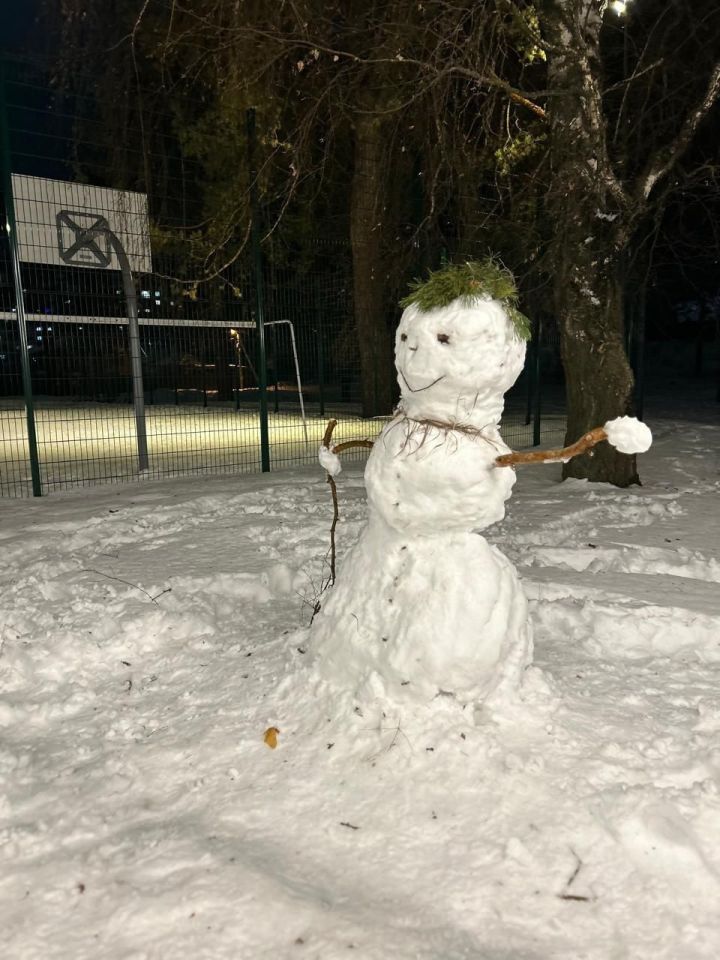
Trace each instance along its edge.
{"label": "snowman's smiling head including its green needle hair", "polygon": [[[448,272],[455,274],[452,283],[447,282]],[[481,285],[478,273],[499,275],[503,286],[498,290],[492,283]],[[528,333],[527,321],[515,307],[511,277],[507,292],[508,276],[494,261],[449,267],[431,274],[404,301],[395,364],[400,408],[407,416],[478,429],[497,424],[503,395],[523,368]],[[440,289],[436,284],[433,290],[433,278],[438,277]],[[505,296],[498,298],[494,292]],[[453,293],[457,295],[443,302]]]}

